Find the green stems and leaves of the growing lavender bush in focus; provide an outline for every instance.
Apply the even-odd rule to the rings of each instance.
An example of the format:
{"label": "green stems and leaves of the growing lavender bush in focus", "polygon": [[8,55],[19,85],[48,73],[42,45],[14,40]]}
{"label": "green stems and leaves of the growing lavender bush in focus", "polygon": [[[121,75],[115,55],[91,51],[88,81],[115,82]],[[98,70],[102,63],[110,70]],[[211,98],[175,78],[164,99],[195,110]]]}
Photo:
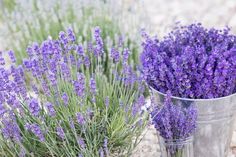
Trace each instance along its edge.
{"label": "green stems and leaves of the growing lavender bush in focus", "polygon": [[[50,40],[48,40],[48,42],[50,42]],[[74,44],[75,43],[72,43],[72,45]],[[86,42],[82,42],[82,44],[86,45]],[[109,43],[105,44],[107,44],[107,47],[110,45]],[[137,78],[140,74],[138,72],[132,72],[131,77],[126,76],[123,70],[130,64],[124,64],[126,63],[123,58],[125,46],[116,46],[115,48],[119,50],[120,59],[119,62],[114,62],[113,58],[108,57],[110,67],[108,72],[109,77],[104,75],[104,66],[101,62],[105,56],[95,57],[93,53],[89,52],[86,46],[85,54],[89,56],[92,63],[90,68],[83,64],[78,68],[78,63],[74,64],[71,61],[66,63],[69,67],[72,80],[77,79],[78,73],[82,73],[85,76],[86,86],[84,97],[80,97],[76,94],[72,83],[73,81],[70,82],[63,76],[60,65],[56,65],[58,69],[56,73],[56,86],[52,85],[48,71],[43,73],[42,78],[37,78],[33,77],[32,73],[23,66],[24,76],[21,77],[31,76],[30,86],[25,86],[25,82],[23,82],[22,84],[18,84],[17,87],[19,88],[22,85],[20,89],[27,89],[27,99],[25,99],[22,94],[19,94],[19,92],[15,95],[14,87],[12,89],[9,87],[6,91],[1,91],[1,94],[15,95],[16,104],[20,104],[20,106],[14,108],[13,106],[15,105],[11,106],[5,101],[5,103],[2,104],[4,107],[1,108],[5,111],[0,117],[8,119],[11,113],[14,112],[15,120],[13,121],[16,121],[22,139],[20,142],[15,141],[14,138],[6,139],[1,134],[0,156],[14,157],[19,154],[24,154],[26,156],[35,157],[74,157],[81,154],[84,157],[98,157],[101,156],[101,148],[105,151],[105,139],[108,141],[108,154],[106,156],[130,156],[142,138],[142,132],[148,122],[148,114],[142,111],[141,106],[136,106],[137,103],[139,103],[138,99],[141,98],[143,94],[143,90],[141,90],[144,89],[142,81],[140,82],[140,80],[137,79],[131,84],[127,84],[124,79],[121,79]],[[63,58],[71,54],[77,58],[76,61],[81,57],[74,50],[69,51],[69,53],[61,52],[63,56],[60,57],[58,63],[63,62]],[[34,56],[32,60],[35,57],[36,56]],[[49,66],[47,64],[43,65]],[[12,69],[17,67],[17,64],[12,64]],[[4,70],[2,69],[2,71]],[[16,79],[17,75],[15,75],[14,72],[11,77],[14,79],[7,79],[9,86],[14,85],[11,83],[14,82],[14,80],[21,80],[21,78]],[[96,81],[97,92],[95,95],[90,92],[89,81],[91,78],[94,78]],[[49,94],[45,93],[42,80],[47,82]],[[2,79],[2,81],[5,81],[5,79]],[[38,92],[33,90],[33,86],[36,86]],[[69,101],[67,105],[63,102],[61,97],[63,93],[67,93],[68,95]],[[95,102],[93,101],[94,96]],[[31,100],[31,98],[36,98],[40,103],[41,111],[39,116],[33,116],[30,111],[28,100]],[[107,98],[109,98],[108,105],[106,105]],[[6,100],[7,99],[8,98],[6,98]],[[45,105],[46,102],[53,104],[56,113],[54,117],[48,114],[49,111]],[[10,110],[8,111],[9,108]],[[88,110],[92,111],[92,117],[88,116]],[[134,110],[137,111],[134,113]],[[86,122],[82,126],[77,122],[77,113],[81,113],[86,117]],[[75,127],[71,127],[71,121],[74,122]],[[27,124],[39,125],[45,140],[43,142],[40,141],[34,133],[27,130]],[[63,140],[60,139],[56,133],[56,127],[58,125],[64,130],[65,138]],[[0,123],[0,126],[1,128],[7,128],[7,126],[4,126],[2,123]],[[12,130],[12,128],[9,130]],[[77,143],[77,137],[83,138],[85,147]]]}

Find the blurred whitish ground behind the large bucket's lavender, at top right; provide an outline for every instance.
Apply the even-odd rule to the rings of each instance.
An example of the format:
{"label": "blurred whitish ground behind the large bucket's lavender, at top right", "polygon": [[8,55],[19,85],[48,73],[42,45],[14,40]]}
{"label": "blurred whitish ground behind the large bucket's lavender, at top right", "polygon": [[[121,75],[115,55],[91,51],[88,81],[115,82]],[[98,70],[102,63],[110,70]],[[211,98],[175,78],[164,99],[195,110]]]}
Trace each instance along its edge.
{"label": "blurred whitish ground behind the large bucket's lavender, at top right", "polygon": [[175,22],[201,22],[206,27],[229,26],[236,31],[235,0],[145,0],[152,31],[163,35]]}

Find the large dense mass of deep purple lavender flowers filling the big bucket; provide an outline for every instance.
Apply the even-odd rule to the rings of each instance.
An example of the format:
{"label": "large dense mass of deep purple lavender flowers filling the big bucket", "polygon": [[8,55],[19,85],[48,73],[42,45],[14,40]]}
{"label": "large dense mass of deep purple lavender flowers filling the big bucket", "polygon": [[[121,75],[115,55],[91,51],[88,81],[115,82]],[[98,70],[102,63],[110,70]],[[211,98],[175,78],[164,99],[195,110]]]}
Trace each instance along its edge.
{"label": "large dense mass of deep purple lavender flowers filling the big bucket", "polygon": [[236,36],[229,28],[191,24],[177,26],[163,40],[143,35],[142,71],[154,89],[192,99],[236,92]]}

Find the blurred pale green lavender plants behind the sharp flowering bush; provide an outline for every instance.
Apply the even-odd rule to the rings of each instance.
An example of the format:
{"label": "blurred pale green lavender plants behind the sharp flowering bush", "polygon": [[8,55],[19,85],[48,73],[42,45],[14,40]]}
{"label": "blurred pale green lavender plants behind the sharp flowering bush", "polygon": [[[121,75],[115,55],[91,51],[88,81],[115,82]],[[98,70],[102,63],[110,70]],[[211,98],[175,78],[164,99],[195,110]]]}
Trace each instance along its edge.
{"label": "blurred pale green lavender plants behind the sharp flowering bush", "polygon": [[[8,3],[5,2],[3,5],[7,6]],[[104,40],[117,41],[118,34],[125,31],[122,29],[124,24],[120,23],[120,19],[113,13],[116,10],[113,5],[110,1],[102,0],[16,1],[13,11],[0,11],[4,23],[0,28],[5,43],[2,46],[5,49],[13,49],[16,52],[17,63],[20,64],[22,59],[27,57],[25,49],[27,45],[32,44],[30,41],[42,42],[48,37],[56,38],[58,33],[67,27],[72,27],[81,41],[91,40],[90,28],[95,26],[106,30],[102,34]],[[132,18],[134,17],[130,16],[129,19]],[[136,30],[134,27],[131,29]],[[138,52],[133,37],[129,36],[124,42],[130,50]],[[105,47],[104,51],[109,53],[108,49],[109,47]],[[137,63],[138,54],[133,53],[130,60]]]}

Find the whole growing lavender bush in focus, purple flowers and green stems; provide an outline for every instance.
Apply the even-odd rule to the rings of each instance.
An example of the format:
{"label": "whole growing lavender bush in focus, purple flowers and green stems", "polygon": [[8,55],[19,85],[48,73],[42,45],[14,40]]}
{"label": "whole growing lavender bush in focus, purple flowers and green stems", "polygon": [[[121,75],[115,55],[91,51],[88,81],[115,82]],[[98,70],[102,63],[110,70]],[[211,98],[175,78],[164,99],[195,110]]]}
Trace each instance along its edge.
{"label": "whole growing lavender bush in focus, purple flowers and green stems", "polygon": [[142,79],[122,44],[111,48],[105,75],[106,43],[98,27],[93,34],[85,46],[73,30],[60,32],[29,46],[19,66],[9,51],[9,69],[0,57],[1,156],[131,154],[147,122]]}

